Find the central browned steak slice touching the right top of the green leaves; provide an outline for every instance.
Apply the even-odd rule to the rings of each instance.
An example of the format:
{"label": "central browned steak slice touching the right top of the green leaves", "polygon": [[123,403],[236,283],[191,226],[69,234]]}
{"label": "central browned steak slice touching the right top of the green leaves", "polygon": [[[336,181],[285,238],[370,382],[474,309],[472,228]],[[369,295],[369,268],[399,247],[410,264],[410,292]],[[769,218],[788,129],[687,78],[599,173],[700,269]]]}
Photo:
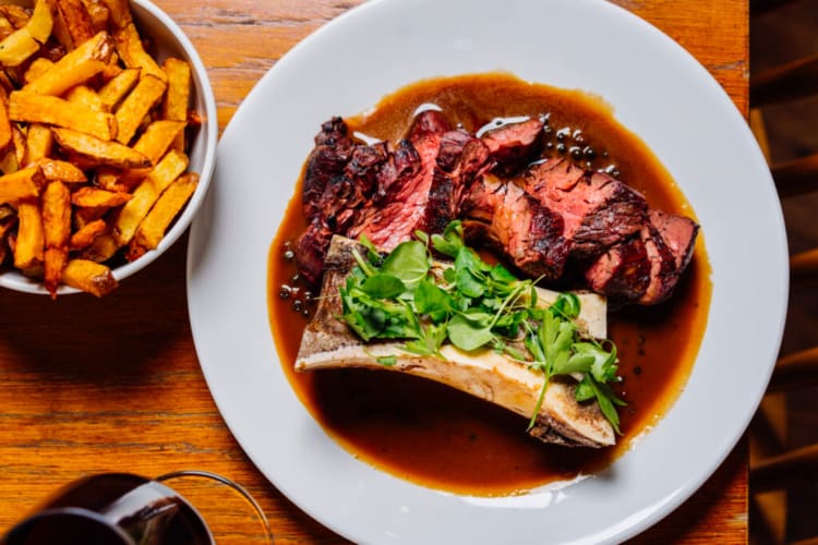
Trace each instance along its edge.
{"label": "central browned steak slice touching the right top of the green leaves", "polygon": [[484,175],[472,183],[461,210],[467,239],[488,242],[532,277],[563,276],[569,244],[562,217],[519,185]]}

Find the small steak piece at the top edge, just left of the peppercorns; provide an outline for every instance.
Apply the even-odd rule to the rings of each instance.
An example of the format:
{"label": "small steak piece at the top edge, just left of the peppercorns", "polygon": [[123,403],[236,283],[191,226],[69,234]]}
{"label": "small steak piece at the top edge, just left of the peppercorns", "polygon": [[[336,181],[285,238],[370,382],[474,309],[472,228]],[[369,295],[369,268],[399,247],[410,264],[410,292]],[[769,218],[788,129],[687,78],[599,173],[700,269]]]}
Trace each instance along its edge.
{"label": "small steak piece at the top edge, just left of the peppercorns", "polygon": [[494,161],[492,172],[508,177],[526,168],[542,150],[542,121],[529,119],[484,133],[482,141]]}

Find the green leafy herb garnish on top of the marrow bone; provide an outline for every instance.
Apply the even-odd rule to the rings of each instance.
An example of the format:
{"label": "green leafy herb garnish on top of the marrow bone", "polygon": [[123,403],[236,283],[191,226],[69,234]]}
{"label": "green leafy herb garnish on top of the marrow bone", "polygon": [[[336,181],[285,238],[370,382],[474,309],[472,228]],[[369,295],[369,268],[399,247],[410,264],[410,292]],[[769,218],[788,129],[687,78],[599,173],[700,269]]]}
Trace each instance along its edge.
{"label": "green leafy herb garnish on top of the marrow bone", "polygon": [[[576,294],[561,293],[546,308],[538,306],[534,281],[482,261],[465,244],[459,221],[442,234],[418,231],[416,239],[381,256],[362,237],[366,257],[353,251],[358,266],[339,291],[341,317],[357,335],[364,341],[404,339],[404,350],[414,354],[442,358],[441,347],[450,342],[467,352],[488,348],[525,363],[544,376],[529,428],[551,378],[573,375],[576,399],[596,401],[621,433],[616,408],[625,403],[610,386],[621,380],[616,347],[582,338],[575,322],[580,313]],[[432,249],[454,264],[433,267]],[[397,363],[396,355],[376,360],[385,366]]]}

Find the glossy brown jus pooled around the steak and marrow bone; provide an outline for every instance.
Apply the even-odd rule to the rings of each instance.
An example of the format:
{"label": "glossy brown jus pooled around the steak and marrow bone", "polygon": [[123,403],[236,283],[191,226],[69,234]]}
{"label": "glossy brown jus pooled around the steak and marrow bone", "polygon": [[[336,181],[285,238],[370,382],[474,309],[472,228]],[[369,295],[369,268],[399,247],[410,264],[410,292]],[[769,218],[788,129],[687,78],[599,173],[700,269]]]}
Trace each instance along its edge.
{"label": "glossy brown jus pooled around the steak and marrow bone", "polygon": [[[395,142],[418,108],[429,105],[471,132],[521,116],[541,117],[548,120],[546,154],[605,170],[640,191],[653,208],[694,216],[650,149],[614,120],[609,106],[582,92],[504,73],[434,78],[401,88],[373,111],[346,121],[351,132]],[[433,488],[507,495],[599,471],[670,409],[703,336],[712,286],[699,233],[670,301],[609,313],[609,336],[624,377],[616,390],[627,402],[619,409],[624,435],[617,445],[601,450],[545,445],[526,434],[527,419],[421,378],[366,370],[297,374],[292,366],[313,294],[297,278],[289,243],[304,229],[299,180],[268,259],[269,319],[285,374],[324,429],[353,456]]]}

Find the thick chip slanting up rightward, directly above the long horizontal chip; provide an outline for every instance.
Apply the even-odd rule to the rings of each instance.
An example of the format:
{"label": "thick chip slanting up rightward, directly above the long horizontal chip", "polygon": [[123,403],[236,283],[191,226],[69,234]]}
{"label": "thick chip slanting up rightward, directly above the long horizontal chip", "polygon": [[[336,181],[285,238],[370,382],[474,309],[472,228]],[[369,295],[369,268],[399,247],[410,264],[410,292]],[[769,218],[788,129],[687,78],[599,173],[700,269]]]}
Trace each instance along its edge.
{"label": "thick chip slanting up rightward, directly above the long horizontal chip", "polygon": [[113,47],[108,33],[97,33],[64,55],[50,70],[23,87],[23,90],[37,95],[62,95],[74,85],[85,83],[101,72],[112,53]]}

